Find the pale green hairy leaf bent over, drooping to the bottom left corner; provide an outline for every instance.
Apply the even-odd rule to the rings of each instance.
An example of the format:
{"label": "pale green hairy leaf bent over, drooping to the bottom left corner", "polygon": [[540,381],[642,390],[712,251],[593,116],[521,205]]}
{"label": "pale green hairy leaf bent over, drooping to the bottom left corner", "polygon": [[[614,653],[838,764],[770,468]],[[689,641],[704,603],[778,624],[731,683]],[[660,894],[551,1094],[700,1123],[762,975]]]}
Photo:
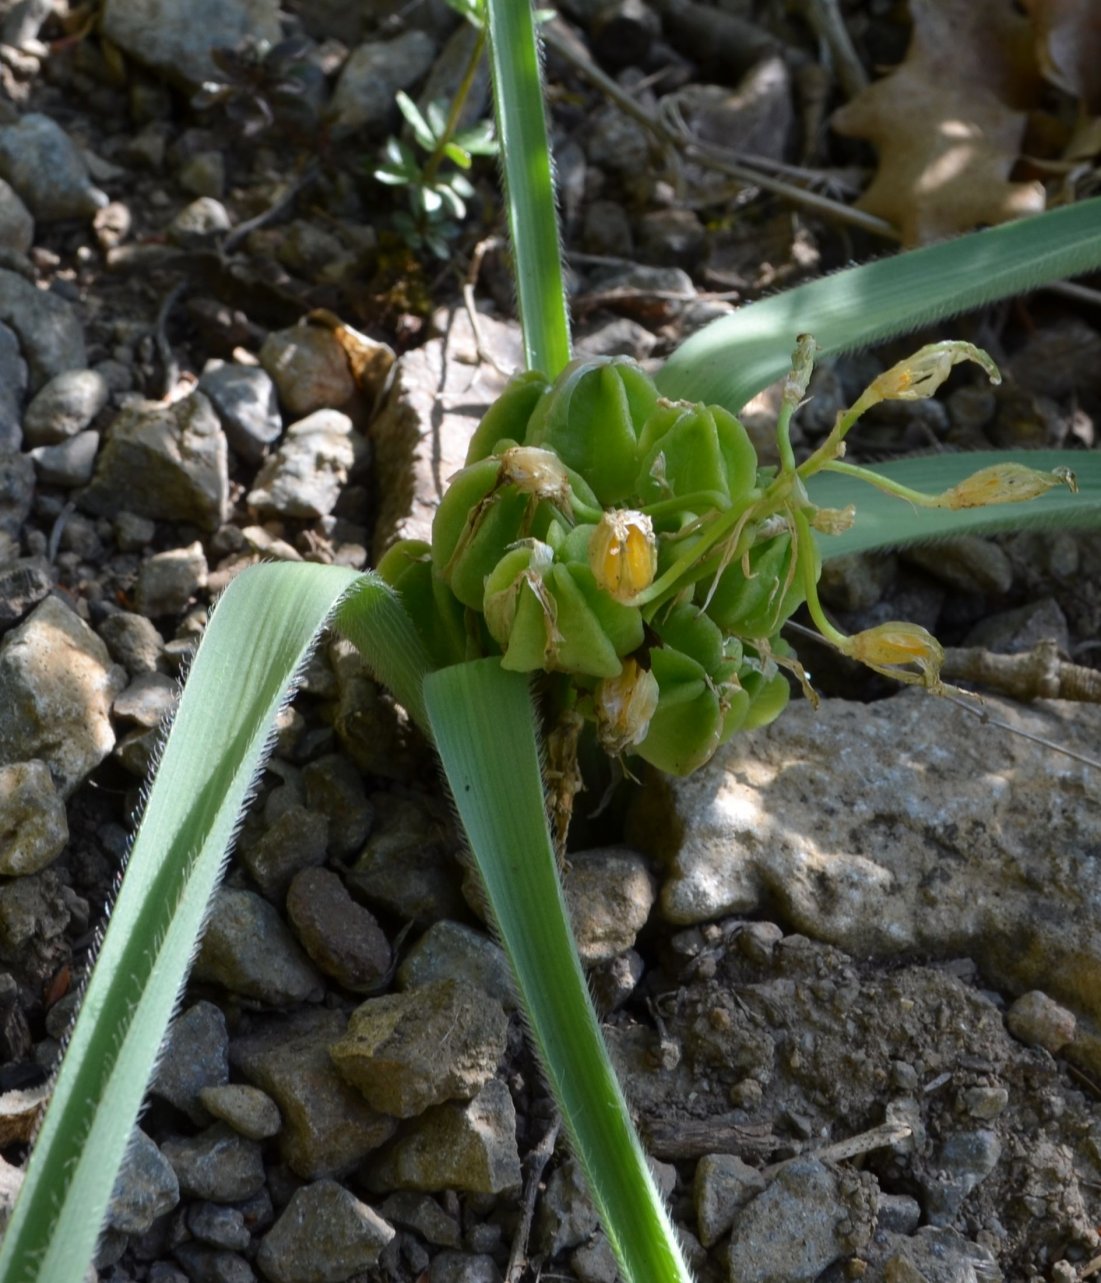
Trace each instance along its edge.
{"label": "pale green hairy leaf bent over, drooping to the bottom left corner", "polygon": [[[361,618],[362,636],[404,638],[393,593],[335,566],[248,570],[213,612],[0,1242],[0,1283],[83,1278],[276,715],[348,593],[341,618],[381,620]],[[391,658],[407,693],[416,650]]]}

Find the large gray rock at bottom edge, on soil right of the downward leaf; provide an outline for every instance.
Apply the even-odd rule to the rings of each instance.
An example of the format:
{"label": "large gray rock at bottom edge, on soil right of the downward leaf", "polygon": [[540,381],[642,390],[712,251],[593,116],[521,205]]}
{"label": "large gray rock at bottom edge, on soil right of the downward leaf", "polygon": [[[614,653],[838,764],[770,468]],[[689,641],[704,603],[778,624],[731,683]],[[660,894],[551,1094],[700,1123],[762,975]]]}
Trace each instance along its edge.
{"label": "large gray rock at bottom edge, on soil right of the downward leaf", "polygon": [[[829,1168],[817,1159],[793,1159],[734,1221],[731,1283],[812,1283],[853,1250],[853,1214]],[[866,1242],[871,1223],[864,1228]]]}

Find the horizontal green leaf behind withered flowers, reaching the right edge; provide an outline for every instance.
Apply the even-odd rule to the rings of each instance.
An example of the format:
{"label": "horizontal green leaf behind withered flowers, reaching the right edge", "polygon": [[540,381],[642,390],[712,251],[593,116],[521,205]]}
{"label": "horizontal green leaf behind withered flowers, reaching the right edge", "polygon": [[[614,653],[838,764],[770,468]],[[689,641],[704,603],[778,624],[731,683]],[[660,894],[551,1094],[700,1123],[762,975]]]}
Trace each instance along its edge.
{"label": "horizontal green leaf behind withered flowers, reaching the right edge", "polygon": [[1101,526],[1101,454],[1087,450],[975,450],[968,454],[929,454],[869,468],[925,494],[939,494],[979,468],[1015,461],[1041,471],[1070,467],[1078,494],[1059,486],[1027,503],[950,512],[915,508],[856,477],[820,472],[807,482],[811,500],[821,508],[856,507],[856,521],[839,535],[820,535],[823,557],[898,548],[957,535],[992,535],[1014,530]]}

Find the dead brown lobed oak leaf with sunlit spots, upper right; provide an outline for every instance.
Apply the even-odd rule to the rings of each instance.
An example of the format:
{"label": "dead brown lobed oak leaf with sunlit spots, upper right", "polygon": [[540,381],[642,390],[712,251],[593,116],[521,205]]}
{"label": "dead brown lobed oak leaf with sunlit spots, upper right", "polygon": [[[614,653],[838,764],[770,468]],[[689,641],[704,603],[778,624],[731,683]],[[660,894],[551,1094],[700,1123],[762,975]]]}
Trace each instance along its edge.
{"label": "dead brown lobed oak leaf with sunlit spots, upper right", "polygon": [[902,64],[834,113],[879,167],[861,209],[905,245],[1043,209],[1038,182],[1011,182],[1039,72],[1029,19],[1012,0],[910,0]]}

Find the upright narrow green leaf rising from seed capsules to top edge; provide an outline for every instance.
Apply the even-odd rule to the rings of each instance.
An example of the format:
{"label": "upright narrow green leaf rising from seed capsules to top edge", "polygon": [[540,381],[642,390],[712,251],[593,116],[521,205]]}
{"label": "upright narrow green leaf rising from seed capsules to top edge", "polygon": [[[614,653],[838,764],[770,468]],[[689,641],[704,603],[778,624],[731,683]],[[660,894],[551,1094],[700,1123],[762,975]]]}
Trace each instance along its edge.
{"label": "upright narrow green leaf rising from seed capsules to top edge", "polygon": [[570,359],[554,174],[530,0],[489,0],[489,55],[516,302],[529,370]]}

